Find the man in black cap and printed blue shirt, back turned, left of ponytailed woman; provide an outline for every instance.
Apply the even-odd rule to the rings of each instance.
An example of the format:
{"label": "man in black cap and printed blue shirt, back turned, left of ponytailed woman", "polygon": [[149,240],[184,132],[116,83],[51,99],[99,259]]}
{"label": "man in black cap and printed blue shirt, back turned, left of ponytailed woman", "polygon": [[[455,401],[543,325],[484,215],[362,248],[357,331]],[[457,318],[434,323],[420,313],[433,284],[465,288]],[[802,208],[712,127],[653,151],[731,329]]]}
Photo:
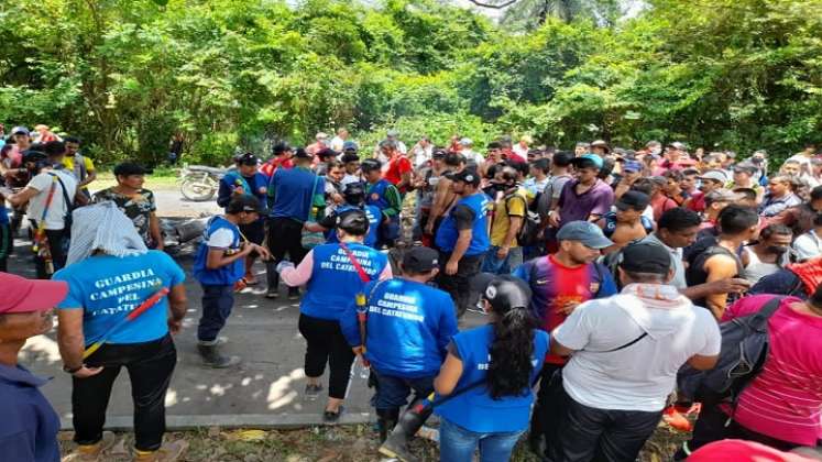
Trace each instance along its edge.
{"label": "man in black cap and printed blue shirt, back turned, left of ponytailed woman", "polygon": [[[434,377],[457,333],[451,297],[426,285],[439,272],[438,257],[432,249],[412,248],[403,255],[401,277],[372,282],[363,289],[368,298],[364,356],[377,382],[372,404],[380,441],[396,425],[412,391],[418,398],[434,392]],[[340,323],[349,344],[357,348],[362,339],[353,311],[354,305]]]}

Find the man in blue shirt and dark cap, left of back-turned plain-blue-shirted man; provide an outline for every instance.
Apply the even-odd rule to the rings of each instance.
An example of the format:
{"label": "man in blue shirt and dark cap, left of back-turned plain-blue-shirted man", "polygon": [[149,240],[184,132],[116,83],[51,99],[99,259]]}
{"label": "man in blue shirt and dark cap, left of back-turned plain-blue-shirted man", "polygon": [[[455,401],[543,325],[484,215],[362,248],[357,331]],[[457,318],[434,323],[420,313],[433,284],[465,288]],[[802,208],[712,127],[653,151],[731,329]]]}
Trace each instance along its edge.
{"label": "man in blue shirt and dark cap, left of back-turned plain-blue-shirted man", "polygon": [[[260,204],[265,204],[268,178],[259,172],[260,160],[253,153],[245,153],[234,158],[237,170],[226,174],[220,179],[220,189],[217,195],[217,205],[227,208],[232,198],[237,196],[253,196]],[[240,224],[240,232],[257,245],[262,245],[265,240],[265,217],[263,215],[249,224]],[[253,286],[256,284],[256,277],[252,272],[256,252],[250,253],[245,257],[245,275],[243,280],[245,285]]]}

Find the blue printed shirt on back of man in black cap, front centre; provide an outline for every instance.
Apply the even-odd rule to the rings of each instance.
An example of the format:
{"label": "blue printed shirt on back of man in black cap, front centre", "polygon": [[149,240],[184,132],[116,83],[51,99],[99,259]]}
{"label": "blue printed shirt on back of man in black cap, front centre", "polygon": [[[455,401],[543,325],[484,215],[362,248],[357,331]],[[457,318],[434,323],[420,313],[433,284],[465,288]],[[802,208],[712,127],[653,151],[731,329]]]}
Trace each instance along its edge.
{"label": "blue printed shirt on back of man in black cap, front centre", "polygon": [[[437,375],[458,332],[448,293],[414,280],[369,283],[365,358],[381,374],[417,378]],[[340,319],[349,344],[361,343],[357,304]]]}

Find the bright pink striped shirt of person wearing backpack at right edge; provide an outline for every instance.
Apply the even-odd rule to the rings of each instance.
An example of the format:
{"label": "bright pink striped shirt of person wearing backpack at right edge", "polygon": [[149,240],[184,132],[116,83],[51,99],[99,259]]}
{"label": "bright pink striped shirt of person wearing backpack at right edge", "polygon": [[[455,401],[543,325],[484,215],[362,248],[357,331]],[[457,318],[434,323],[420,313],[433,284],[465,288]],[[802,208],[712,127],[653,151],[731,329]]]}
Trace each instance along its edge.
{"label": "bright pink striped shirt of person wearing backpack at right edge", "polygon": [[[745,297],[723,321],[758,311],[772,295]],[[786,297],[768,321],[769,350],[763,371],[739,396],[735,420],[743,427],[802,446],[822,439],[822,317],[797,312]]]}

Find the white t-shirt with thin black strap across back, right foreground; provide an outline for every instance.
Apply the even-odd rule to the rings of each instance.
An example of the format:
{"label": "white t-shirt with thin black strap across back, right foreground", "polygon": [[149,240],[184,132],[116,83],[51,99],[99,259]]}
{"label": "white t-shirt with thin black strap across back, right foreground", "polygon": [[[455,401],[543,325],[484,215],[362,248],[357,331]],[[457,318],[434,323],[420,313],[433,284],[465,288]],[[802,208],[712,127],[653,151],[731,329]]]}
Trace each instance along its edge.
{"label": "white t-shirt with thin black strap across back, right foreground", "polygon": [[[635,294],[649,297],[639,298]],[[614,351],[648,334],[633,345]],[[720,353],[713,315],[673,286],[631,284],[620,295],[587,301],[554,331],[576,350],[562,370],[563,387],[588,407],[656,413],[676,386],[677,372],[695,354]]]}

